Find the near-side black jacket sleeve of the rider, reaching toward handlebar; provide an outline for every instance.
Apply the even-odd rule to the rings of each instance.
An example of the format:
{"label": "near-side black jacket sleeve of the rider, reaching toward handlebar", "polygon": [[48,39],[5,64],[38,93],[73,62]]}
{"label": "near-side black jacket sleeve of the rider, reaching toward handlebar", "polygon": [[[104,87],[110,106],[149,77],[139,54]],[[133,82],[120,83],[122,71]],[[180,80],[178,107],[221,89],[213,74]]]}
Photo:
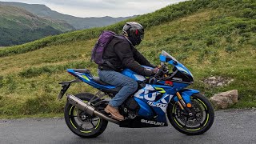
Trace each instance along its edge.
{"label": "near-side black jacket sleeve of the rider, reaching toward handlebar", "polygon": [[149,74],[146,74],[145,68],[138,64],[138,62],[135,62],[134,54],[130,49],[129,43],[118,42],[114,46],[114,51],[118,55],[118,58],[120,58],[124,66],[138,74],[149,76]]}

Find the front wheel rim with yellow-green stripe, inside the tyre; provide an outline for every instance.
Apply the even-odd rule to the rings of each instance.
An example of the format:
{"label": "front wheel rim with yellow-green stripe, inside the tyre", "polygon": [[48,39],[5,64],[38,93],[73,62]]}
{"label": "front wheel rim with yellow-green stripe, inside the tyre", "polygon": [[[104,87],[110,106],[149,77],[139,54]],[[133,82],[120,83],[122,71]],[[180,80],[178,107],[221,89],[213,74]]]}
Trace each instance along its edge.
{"label": "front wheel rim with yellow-green stripe, inside the tyre", "polygon": [[201,130],[208,122],[209,110],[207,109],[206,104],[199,98],[191,97],[191,104],[192,107],[190,110],[193,116],[185,114],[177,103],[174,104],[172,110],[174,122],[184,130]]}

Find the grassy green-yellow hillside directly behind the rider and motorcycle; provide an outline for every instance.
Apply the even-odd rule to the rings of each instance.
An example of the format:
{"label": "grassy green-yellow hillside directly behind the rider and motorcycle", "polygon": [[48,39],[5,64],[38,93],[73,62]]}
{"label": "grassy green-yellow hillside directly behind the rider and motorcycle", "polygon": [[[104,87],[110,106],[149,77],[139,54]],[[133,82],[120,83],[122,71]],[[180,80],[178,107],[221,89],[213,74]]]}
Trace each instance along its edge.
{"label": "grassy green-yellow hillside directly behind the rider and motorcycle", "polygon": [[[256,2],[253,0],[195,0],[167,6],[132,21],[146,27],[138,50],[158,64],[162,50],[173,54],[194,74],[194,85],[207,97],[238,90],[234,108],[256,106]],[[0,114],[62,113],[66,99],[56,101],[58,82],[73,79],[66,68],[87,67],[90,51],[102,30],[120,32],[125,22],[80,30],[0,50]],[[211,76],[233,78],[227,86],[202,82]],[[70,87],[71,94],[95,92],[84,83]]]}

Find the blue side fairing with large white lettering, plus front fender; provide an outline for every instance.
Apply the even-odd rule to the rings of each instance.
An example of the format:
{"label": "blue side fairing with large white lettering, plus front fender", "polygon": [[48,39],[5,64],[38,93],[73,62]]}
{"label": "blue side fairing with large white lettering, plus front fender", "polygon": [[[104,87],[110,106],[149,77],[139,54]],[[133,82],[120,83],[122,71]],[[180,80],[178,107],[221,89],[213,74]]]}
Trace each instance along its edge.
{"label": "blue side fairing with large white lettering, plus front fender", "polygon": [[173,86],[146,84],[134,94],[134,99],[140,106],[138,115],[145,118],[156,118],[158,122],[166,122],[166,108],[171,99],[178,102],[177,91],[181,90],[182,98],[186,103],[191,103],[190,96],[192,94],[199,93],[198,90],[182,90],[187,85],[178,82],[174,82]]}

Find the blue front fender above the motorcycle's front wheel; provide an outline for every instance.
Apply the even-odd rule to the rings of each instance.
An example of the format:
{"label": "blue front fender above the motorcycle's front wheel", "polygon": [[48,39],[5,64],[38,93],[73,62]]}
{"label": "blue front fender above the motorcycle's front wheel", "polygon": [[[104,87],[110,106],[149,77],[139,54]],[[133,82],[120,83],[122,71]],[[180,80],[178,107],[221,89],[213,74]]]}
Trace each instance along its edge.
{"label": "blue front fender above the motorcycle's front wheel", "polygon": [[[179,91],[179,93],[182,95],[182,98],[183,98],[184,102],[191,103],[191,101],[190,101],[191,95],[198,94],[199,91],[198,90],[193,90],[193,89],[184,89],[184,90]],[[174,95],[173,99],[174,99],[174,102],[178,102],[177,95]]]}

